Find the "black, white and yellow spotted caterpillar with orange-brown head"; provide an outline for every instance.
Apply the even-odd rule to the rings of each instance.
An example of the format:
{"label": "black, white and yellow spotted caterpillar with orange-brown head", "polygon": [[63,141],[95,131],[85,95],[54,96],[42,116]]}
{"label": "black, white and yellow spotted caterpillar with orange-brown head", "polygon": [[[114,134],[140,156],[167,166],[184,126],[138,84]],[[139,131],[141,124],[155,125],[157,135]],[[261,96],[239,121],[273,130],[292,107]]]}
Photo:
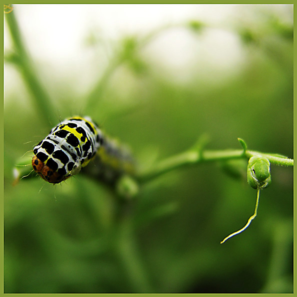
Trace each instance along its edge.
{"label": "black, white and yellow spotted caterpillar with orange-brown head", "polygon": [[33,153],[33,170],[49,183],[60,183],[79,173],[90,160],[94,160],[94,166],[86,172],[107,183],[134,172],[130,152],[104,135],[88,116],[60,122],[33,148]]}

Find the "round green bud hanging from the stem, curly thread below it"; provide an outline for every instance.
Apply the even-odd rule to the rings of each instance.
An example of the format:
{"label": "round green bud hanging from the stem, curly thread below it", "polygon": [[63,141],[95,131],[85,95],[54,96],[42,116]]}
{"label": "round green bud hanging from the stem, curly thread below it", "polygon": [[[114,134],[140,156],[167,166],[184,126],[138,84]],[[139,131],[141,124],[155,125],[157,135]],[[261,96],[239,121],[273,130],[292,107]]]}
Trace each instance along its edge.
{"label": "round green bud hanging from the stem, curly thread below it", "polygon": [[267,187],[271,183],[270,163],[263,156],[252,156],[247,164],[247,182],[255,189]]}

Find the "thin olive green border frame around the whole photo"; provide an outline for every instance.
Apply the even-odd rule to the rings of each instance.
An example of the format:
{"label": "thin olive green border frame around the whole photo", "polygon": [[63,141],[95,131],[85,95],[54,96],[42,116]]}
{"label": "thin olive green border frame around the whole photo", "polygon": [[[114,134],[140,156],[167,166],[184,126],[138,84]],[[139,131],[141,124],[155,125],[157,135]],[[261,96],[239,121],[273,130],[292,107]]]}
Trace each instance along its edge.
{"label": "thin olive green border frame around the whole photo", "polygon": [[[5,2],[6,3],[6,2]],[[124,1],[124,0],[112,0],[112,1],[63,1],[63,2],[59,2],[59,1],[46,1],[46,2],[41,2],[41,1],[33,1],[33,0],[30,0],[30,1],[24,1],[24,0],[16,0],[13,2],[14,4],[296,4],[297,5],[297,0],[291,0],[291,1],[285,1],[285,2],[282,2],[281,0],[278,0],[278,1],[275,1],[275,0],[270,0],[270,1],[267,1],[267,0],[262,0],[262,1],[251,1],[251,0],[247,0],[247,1],[235,1],[235,0],[229,0],[229,1],[219,1],[219,0],[209,0],[209,1],[198,1],[198,0],[185,0],[185,1],[182,1],[182,0],[163,0],[163,1],[156,1],[156,0],[146,0],[146,1],[137,1],[137,0],[129,0],[129,1]],[[2,6],[4,4],[4,1],[3,3],[1,3]],[[293,12],[294,12],[294,16],[296,15],[296,5],[294,5],[294,8],[293,8]],[[1,34],[0,34],[0,38],[1,38],[1,53],[2,53],[2,57],[3,57],[3,15],[4,13],[2,13],[2,16],[1,16]],[[294,24],[294,29],[295,27],[297,27],[297,25]],[[294,42],[294,45],[295,45],[295,42]],[[294,49],[294,60],[296,61],[297,60],[297,50]],[[4,177],[4,174],[3,174],[3,160],[4,160],[4,150],[3,150],[3,143],[4,143],[4,123],[3,123],[3,111],[4,111],[4,95],[3,95],[3,58],[1,59],[1,66],[2,66],[2,71],[1,71],[1,89],[2,89],[2,92],[1,92],[1,107],[0,107],[0,126],[1,126],[1,129],[0,129],[0,178],[1,178],[1,183],[0,183],[0,197],[1,197],[1,202],[0,202],[0,229],[1,229],[1,240],[0,240],[0,247],[1,247],[1,255],[0,255],[0,267],[1,267],[1,270],[0,270],[0,296],[2,295],[9,295],[11,297],[14,297],[14,296],[21,296],[21,295],[26,295],[26,296],[31,296],[31,295],[37,295],[37,296],[50,296],[50,295],[54,295],[54,296],[65,296],[65,295],[75,295],[75,296],[80,296],[80,295],[88,295],[88,296],[93,296],[93,295],[98,295],[98,296],[122,296],[122,297],[125,297],[125,296],[135,296],[135,297],[140,297],[140,296],[184,296],[184,295],[231,295],[231,296],[240,296],[240,295],[244,295],[244,296],[250,296],[250,295],[257,295],[257,294],[227,294],[227,293],[222,293],[222,294],[211,294],[211,293],[208,293],[208,294],[192,294],[192,293],[188,293],[188,294],[179,294],[179,293],[160,293],[160,294],[147,294],[147,293],[133,293],[133,294],[126,294],[126,293],[122,293],[122,294],[119,294],[119,293],[109,293],[109,294],[100,294],[100,293],[97,293],[97,294],[83,294],[83,293],[79,293],[79,294],[60,294],[60,293],[52,293],[52,294],[13,294],[13,293],[6,293],[4,294],[3,293],[3,285],[4,285],[4,282],[3,282],[3,278],[4,278],[4,275],[3,275],[3,265],[4,265],[4,261],[3,261],[3,243],[4,243],[4,239],[3,239],[3,226],[4,226],[4,223],[3,223],[3,219],[4,219],[4,214],[3,214],[3,201],[4,201],[4,193],[3,193],[3,177]],[[297,68],[295,65],[294,65],[294,70],[295,68]],[[295,72],[295,71],[294,71]],[[294,76],[294,86],[295,86],[295,76]],[[296,111],[297,111],[297,107],[296,107],[296,104],[295,104],[295,96],[294,96],[294,105],[293,105],[293,114],[294,114],[294,119],[295,119],[295,114],[296,114]],[[295,127],[296,127],[296,121],[294,120],[294,123],[293,123],[293,127],[294,127],[294,131],[295,131]],[[295,137],[295,132],[294,132],[294,140],[293,140],[293,144],[294,144],[294,156],[295,156],[295,141],[296,141],[296,137]],[[296,184],[296,174],[294,172],[294,186]],[[294,191],[294,197],[295,197],[295,191]],[[295,215],[295,203],[293,203],[293,214]],[[295,220],[294,220],[294,226],[295,226]],[[294,232],[294,246],[295,246],[295,232]],[[295,248],[294,248],[294,255],[295,255]],[[293,263],[293,269],[294,269],[294,272],[295,272],[295,261]],[[295,278],[296,278],[296,274],[294,273],[294,279],[293,279],[293,284],[295,284]],[[231,280],[230,280],[231,281]],[[260,294],[261,296],[274,296],[274,295],[291,295],[291,294]],[[293,293],[294,295],[294,293]]]}

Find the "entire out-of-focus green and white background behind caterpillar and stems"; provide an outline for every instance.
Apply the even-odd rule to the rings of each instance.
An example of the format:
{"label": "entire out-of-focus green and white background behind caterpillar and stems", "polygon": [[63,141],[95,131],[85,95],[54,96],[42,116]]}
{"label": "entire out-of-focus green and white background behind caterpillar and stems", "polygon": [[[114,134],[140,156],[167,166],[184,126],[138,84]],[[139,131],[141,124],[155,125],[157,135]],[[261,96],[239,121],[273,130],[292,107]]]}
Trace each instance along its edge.
{"label": "entire out-of-focus green and white background behind caterpillar and stems", "polygon": [[11,13],[54,107],[44,114],[35,103],[5,23],[5,293],[293,291],[291,167],[271,165],[257,217],[224,244],[254,210],[246,161],[168,172],[128,207],[83,174],[12,185],[18,159],[75,114],[128,144],[142,168],[205,133],[205,149],[239,149],[241,137],[293,157],[292,5],[26,4]]}

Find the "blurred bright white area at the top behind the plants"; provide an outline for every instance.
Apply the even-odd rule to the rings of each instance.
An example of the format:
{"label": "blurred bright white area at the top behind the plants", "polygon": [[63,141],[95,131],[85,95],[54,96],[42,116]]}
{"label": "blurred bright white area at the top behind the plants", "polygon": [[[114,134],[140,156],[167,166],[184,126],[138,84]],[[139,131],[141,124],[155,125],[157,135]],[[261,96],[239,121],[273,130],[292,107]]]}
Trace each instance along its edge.
{"label": "blurred bright white area at the top behind the plants", "polygon": [[[73,90],[81,94],[91,87],[94,76],[103,72],[118,39],[144,36],[163,25],[189,20],[206,25],[199,38],[182,27],[165,30],[144,48],[149,62],[162,64],[164,75],[181,83],[193,72],[210,82],[237,75],[245,58],[234,27],[248,26],[248,19],[261,19],[269,12],[282,22],[293,19],[292,4],[14,5],[25,44],[35,63],[44,69],[42,77],[46,80],[46,73],[50,73],[48,78],[54,73],[57,84],[75,81]],[[11,42],[6,26],[4,33],[7,53]],[[5,68],[7,90],[11,79],[17,79],[15,75],[14,69]]]}

